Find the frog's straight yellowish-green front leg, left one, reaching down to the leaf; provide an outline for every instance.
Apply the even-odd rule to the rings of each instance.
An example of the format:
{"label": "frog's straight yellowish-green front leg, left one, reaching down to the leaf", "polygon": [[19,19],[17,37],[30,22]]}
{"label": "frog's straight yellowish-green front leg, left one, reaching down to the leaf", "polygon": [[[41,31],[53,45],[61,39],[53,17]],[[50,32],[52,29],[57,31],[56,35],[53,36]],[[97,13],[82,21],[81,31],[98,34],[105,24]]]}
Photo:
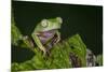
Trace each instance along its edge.
{"label": "frog's straight yellowish-green front leg, left one, reaching down to the leaf", "polygon": [[37,44],[37,46],[38,46],[38,47],[43,52],[43,54],[45,55],[45,54],[46,54],[46,49],[45,49],[45,47],[42,45],[42,43],[41,43],[40,39],[37,37],[37,34],[36,34],[36,33],[32,33],[31,37],[32,37],[35,43]]}

